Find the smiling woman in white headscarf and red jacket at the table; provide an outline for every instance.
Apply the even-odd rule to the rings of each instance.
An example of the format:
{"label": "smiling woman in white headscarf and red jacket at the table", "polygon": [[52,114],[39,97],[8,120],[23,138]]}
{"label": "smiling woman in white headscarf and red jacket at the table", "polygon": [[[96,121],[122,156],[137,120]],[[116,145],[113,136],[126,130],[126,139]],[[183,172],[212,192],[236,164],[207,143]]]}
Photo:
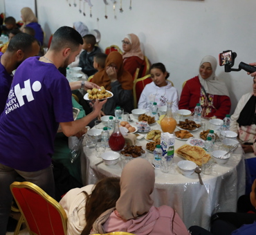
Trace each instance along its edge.
{"label": "smiling woman in white headscarf and red jacket at the table", "polygon": [[196,104],[200,103],[202,117],[223,119],[230,113],[228,88],[216,77],[216,68],[217,60],[214,57],[203,57],[199,75],[189,79],[183,87],[179,109],[188,109],[193,113]]}

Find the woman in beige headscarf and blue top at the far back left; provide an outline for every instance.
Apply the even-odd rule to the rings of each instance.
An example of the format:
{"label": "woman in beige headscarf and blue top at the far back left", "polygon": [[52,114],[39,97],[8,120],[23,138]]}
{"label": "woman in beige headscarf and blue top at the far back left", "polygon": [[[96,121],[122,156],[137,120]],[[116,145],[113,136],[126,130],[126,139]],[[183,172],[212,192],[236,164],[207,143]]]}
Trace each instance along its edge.
{"label": "woman in beige headscarf and blue top at the far back left", "polygon": [[22,8],[21,19],[24,21],[24,25],[21,26],[21,31],[23,31],[25,26],[33,28],[35,30],[35,38],[40,42],[41,46],[43,46],[44,32],[39,23],[37,23],[37,17],[34,12],[30,8]]}

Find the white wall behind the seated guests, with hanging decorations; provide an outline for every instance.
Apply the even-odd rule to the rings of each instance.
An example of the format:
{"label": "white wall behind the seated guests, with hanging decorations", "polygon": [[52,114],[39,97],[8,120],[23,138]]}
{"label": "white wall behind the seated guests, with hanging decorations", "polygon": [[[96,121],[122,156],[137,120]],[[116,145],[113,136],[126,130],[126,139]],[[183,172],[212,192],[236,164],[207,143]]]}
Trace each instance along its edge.
{"label": "white wall behind the seated guests, with hanging decorations", "polygon": [[[73,6],[74,1],[77,7]],[[117,1],[117,18],[114,19],[112,1],[107,0],[105,19],[104,2],[100,0],[91,0],[92,17],[87,3],[86,17],[79,12],[78,0],[37,0],[38,19],[46,32],[46,42],[57,28],[73,26],[74,21],[83,21],[89,30],[100,30],[102,49],[111,44],[121,47],[121,40],[133,32],[140,38],[150,62],[165,64],[179,94],[183,82],[198,74],[205,55],[217,58],[223,50],[230,49],[237,53],[233,68],[239,62],[256,62],[254,0],[134,0],[132,10],[130,1],[122,0],[122,13],[120,0]],[[0,0],[0,9],[2,4]],[[233,111],[241,95],[251,91],[252,78],[245,71],[224,73],[220,66],[216,74],[228,86]]]}

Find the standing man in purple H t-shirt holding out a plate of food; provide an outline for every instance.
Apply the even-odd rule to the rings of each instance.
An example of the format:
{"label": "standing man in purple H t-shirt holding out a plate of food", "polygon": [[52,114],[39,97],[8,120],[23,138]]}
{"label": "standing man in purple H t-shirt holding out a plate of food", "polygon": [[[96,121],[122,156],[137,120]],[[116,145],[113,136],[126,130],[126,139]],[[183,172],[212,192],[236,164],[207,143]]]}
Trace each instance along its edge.
{"label": "standing man in purple H t-shirt holding out a plate of food", "polygon": [[[51,156],[59,124],[66,136],[75,135],[107,102],[97,100],[91,113],[73,120],[71,86],[58,68],[75,60],[82,43],[76,30],[63,26],[53,35],[46,55],[30,57],[17,68],[0,117],[0,235],[6,232],[10,213],[10,184],[20,175],[54,196]],[[91,82],[72,86],[81,87],[99,88]]]}

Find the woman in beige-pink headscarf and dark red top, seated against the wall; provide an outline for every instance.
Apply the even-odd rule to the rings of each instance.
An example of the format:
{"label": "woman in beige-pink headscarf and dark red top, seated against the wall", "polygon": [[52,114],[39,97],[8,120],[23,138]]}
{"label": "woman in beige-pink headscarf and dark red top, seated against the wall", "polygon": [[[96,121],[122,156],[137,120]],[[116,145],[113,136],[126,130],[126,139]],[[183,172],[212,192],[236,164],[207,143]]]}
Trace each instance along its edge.
{"label": "woman in beige-pink headscarf and dark red top, seated against the wall", "polygon": [[122,50],[125,52],[122,55],[125,70],[131,73],[131,76],[134,76],[136,69],[140,68],[140,77],[140,74],[143,72],[144,55],[140,49],[138,37],[133,33],[126,35],[125,39],[122,40]]}

